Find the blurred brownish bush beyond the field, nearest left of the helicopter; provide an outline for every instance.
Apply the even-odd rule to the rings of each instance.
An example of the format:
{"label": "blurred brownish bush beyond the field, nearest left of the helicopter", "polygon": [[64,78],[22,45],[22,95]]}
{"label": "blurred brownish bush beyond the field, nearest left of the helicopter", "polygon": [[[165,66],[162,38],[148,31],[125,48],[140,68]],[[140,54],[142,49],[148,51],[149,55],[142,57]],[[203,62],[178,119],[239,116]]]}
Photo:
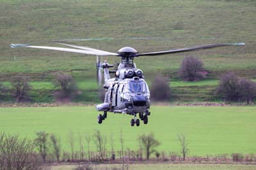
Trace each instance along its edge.
{"label": "blurred brownish bush beyond the field, nearest left of the helicopter", "polygon": [[55,74],[54,84],[60,90],[54,93],[54,96],[58,102],[69,102],[77,95],[77,86],[71,75],[63,72],[57,72]]}

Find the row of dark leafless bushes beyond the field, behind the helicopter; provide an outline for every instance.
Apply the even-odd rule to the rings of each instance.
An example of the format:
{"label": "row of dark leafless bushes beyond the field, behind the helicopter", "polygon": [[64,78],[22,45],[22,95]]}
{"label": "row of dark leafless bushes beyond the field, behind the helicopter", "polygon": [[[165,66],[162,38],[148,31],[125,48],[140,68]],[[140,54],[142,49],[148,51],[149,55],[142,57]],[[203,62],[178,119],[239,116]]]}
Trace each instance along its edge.
{"label": "row of dark leafless bushes beyond the field, behind the helicopter", "polygon": [[[204,63],[193,56],[182,60],[179,68],[179,77],[183,81],[201,81],[207,79],[208,71]],[[29,85],[29,77],[16,75],[11,78],[11,88],[8,89],[0,82],[0,102],[4,95],[10,93],[15,102],[31,102],[29,92],[33,88]],[[54,73],[54,86],[57,90],[52,93],[56,102],[70,102],[79,93],[76,82],[71,75],[63,72]],[[156,76],[150,87],[150,98],[156,102],[170,101],[172,89],[165,77]],[[225,102],[246,102],[250,104],[256,98],[256,82],[243,77],[238,77],[233,72],[227,72],[221,76],[220,83],[214,95]],[[104,100],[105,91],[99,91],[100,100]]]}

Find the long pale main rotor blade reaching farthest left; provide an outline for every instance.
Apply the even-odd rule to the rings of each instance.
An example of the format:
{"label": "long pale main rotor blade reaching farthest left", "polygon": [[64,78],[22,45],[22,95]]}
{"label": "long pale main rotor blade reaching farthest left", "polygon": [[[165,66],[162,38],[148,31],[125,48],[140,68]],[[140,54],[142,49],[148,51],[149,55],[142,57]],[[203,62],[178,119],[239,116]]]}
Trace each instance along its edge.
{"label": "long pale main rotor blade reaching farthest left", "polygon": [[91,55],[99,55],[99,56],[116,56],[109,52],[100,52],[100,51],[90,51],[90,50],[79,50],[79,49],[68,49],[68,48],[61,48],[61,47],[46,47],[46,46],[33,46],[33,45],[22,45],[22,44],[11,44],[12,48],[15,47],[26,47],[26,48],[33,48],[33,49],[47,49],[47,50],[60,50],[65,52],[75,52],[79,54],[91,54]]}

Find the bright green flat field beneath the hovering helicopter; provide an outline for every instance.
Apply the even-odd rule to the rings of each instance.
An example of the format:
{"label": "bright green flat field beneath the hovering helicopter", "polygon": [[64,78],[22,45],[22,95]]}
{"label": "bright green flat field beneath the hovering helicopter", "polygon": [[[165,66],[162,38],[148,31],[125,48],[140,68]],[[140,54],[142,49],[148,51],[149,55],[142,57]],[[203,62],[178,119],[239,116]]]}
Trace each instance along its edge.
{"label": "bright green flat field beneath the hovering helicopter", "polygon": [[[95,130],[109,137],[113,133],[115,150],[120,150],[120,130],[124,133],[125,148],[138,149],[138,135],[154,132],[161,142],[157,151],[179,151],[177,134],[188,137],[189,155],[221,153],[255,153],[255,107],[178,107],[156,106],[148,125],[131,127],[131,116],[108,114],[99,125],[97,111],[89,107],[2,107],[0,132],[33,138],[35,132],[45,130],[61,137],[62,147],[68,150],[68,134],[93,134]],[[78,143],[76,142],[76,146]],[[92,146],[93,149],[95,146]]]}

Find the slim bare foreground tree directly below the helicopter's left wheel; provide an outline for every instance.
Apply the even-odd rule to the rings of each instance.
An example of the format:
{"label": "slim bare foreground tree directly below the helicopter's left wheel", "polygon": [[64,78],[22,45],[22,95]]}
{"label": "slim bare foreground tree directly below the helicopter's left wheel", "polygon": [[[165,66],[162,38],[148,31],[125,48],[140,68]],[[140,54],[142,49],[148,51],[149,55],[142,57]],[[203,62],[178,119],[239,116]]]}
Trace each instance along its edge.
{"label": "slim bare foreground tree directly below the helicopter's left wheel", "polygon": [[104,160],[104,153],[105,153],[105,149],[106,149],[106,136],[100,134],[100,131],[97,130],[94,134],[94,141],[95,141],[95,145],[96,145],[96,149],[100,155],[100,158],[102,160]]}

